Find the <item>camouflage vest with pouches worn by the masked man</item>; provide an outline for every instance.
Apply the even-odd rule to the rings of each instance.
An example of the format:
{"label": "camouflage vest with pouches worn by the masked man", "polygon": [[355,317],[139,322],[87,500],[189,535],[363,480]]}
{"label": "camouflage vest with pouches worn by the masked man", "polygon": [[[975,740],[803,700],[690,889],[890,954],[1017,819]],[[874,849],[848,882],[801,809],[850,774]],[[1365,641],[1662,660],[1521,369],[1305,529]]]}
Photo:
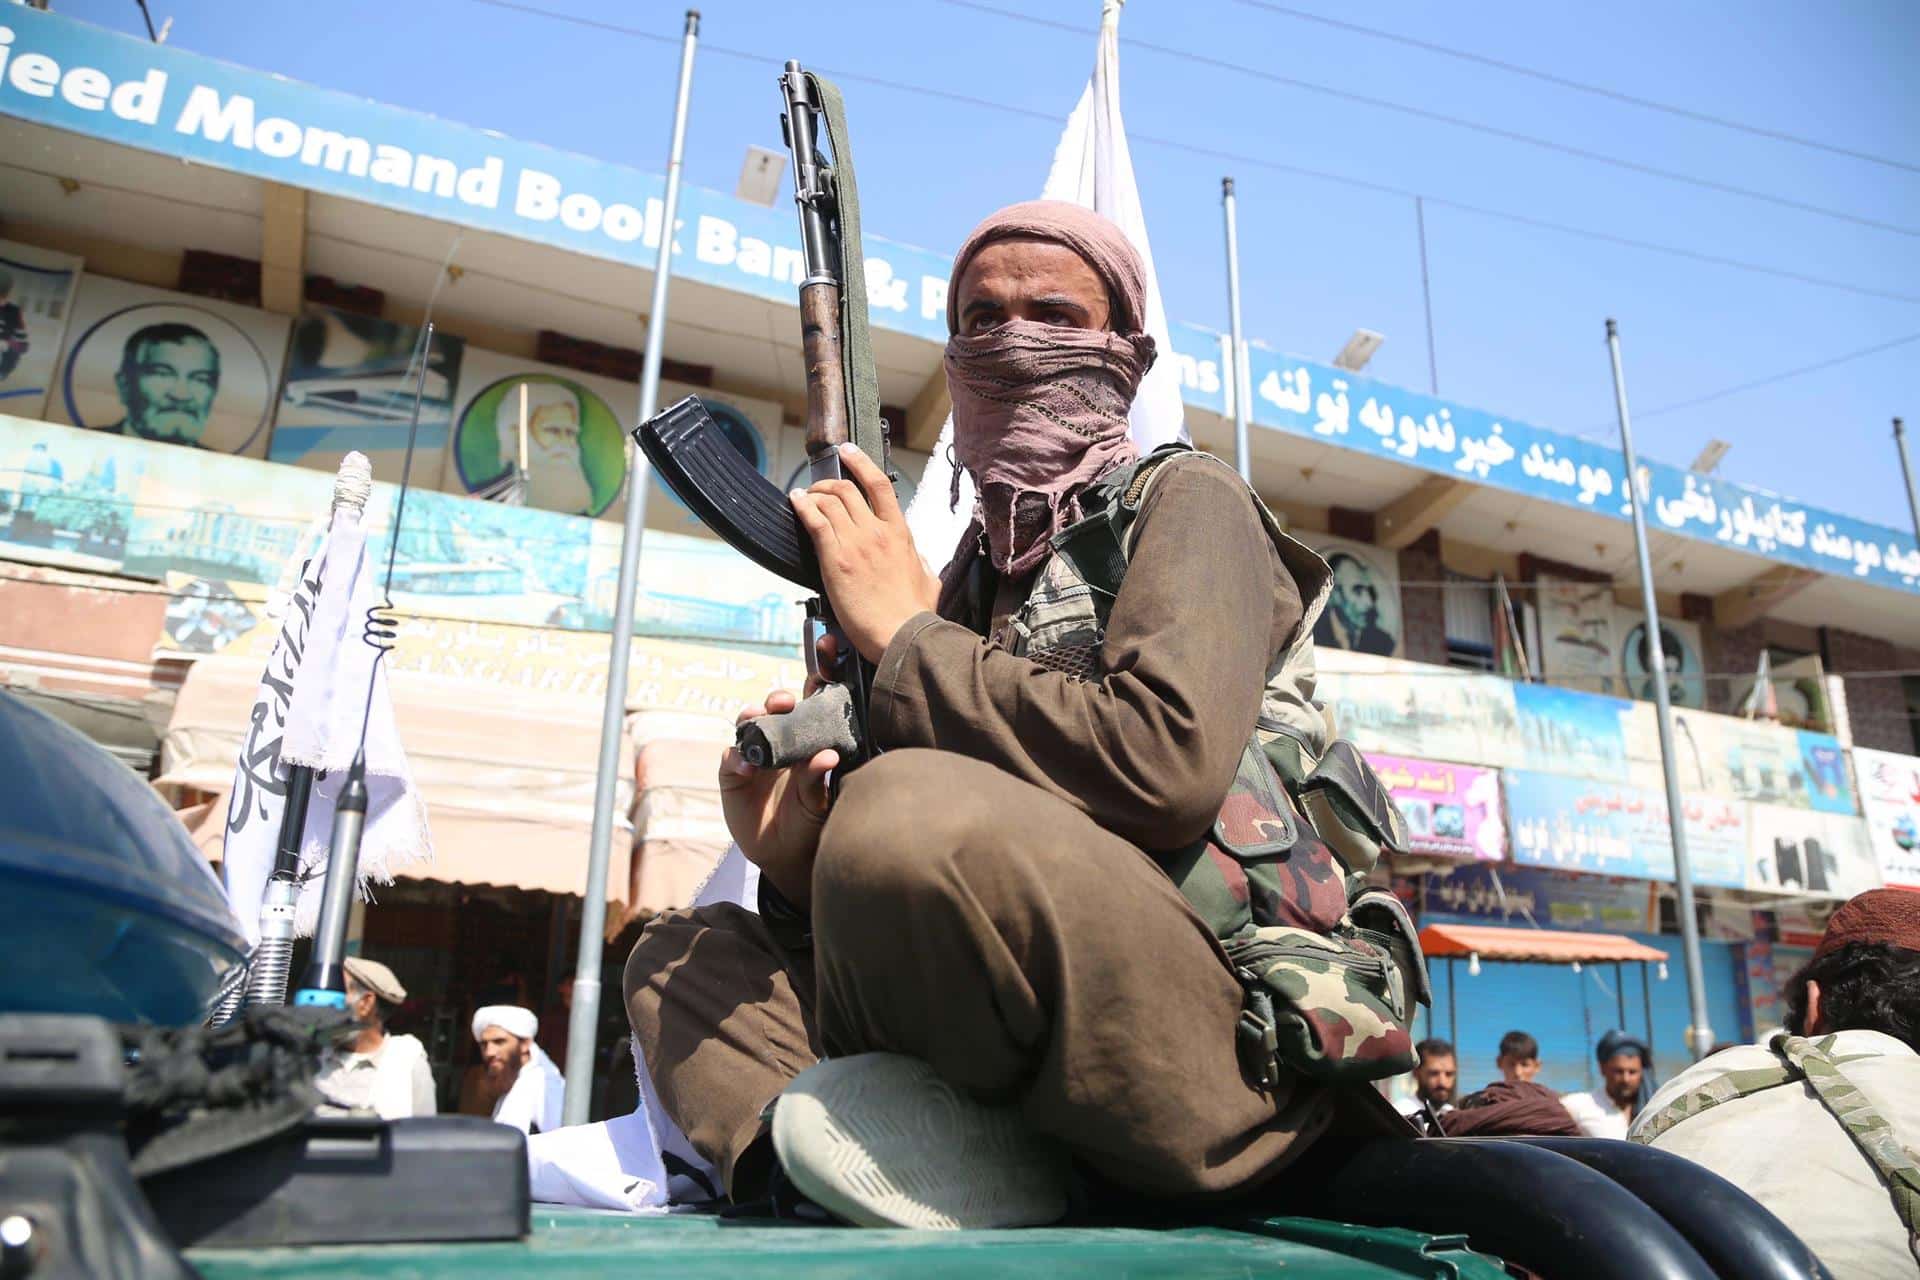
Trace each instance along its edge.
{"label": "camouflage vest with pouches worn by the masked man", "polygon": [[[1002,629],[1014,654],[1075,679],[1100,677],[1106,624],[1154,478],[1173,466],[1225,466],[1167,445],[1081,497],[1083,518],[1054,535],[1025,604]],[[1258,727],[1240,752],[1212,833],[1154,854],[1227,948],[1246,992],[1240,1050],[1248,1073],[1375,1080],[1411,1071],[1413,1011],[1427,969],[1405,908],[1367,877],[1405,831],[1386,789],[1352,743],[1332,741],[1313,700],[1313,622],[1327,604],[1327,562],[1294,541],[1252,493],[1261,524],[1306,608],[1267,664]]]}

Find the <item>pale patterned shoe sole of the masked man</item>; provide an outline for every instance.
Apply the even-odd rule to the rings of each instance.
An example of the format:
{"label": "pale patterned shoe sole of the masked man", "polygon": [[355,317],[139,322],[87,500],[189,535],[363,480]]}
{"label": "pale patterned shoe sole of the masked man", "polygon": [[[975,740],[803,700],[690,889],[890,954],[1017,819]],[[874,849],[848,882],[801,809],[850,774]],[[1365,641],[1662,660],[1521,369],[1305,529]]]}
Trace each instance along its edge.
{"label": "pale patterned shoe sole of the masked man", "polygon": [[774,1151],[803,1196],[856,1226],[1041,1226],[1068,1211],[1058,1148],[899,1054],[795,1077],[774,1107]]}

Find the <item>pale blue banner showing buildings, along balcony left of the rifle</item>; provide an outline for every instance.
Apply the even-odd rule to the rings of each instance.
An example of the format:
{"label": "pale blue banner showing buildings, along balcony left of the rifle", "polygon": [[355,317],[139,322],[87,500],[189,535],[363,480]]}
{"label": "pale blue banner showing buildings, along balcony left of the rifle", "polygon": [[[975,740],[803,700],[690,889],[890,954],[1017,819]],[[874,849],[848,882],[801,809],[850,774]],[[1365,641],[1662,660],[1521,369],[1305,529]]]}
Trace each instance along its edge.
{"label": "pale blue banner showing buildings, along balcony left of the rifle", "polygon": [[[369,545],[386,545],[396,493],[374,486]],[[207,645],[242,622],[221,620],[230,612],[225,601],[240,583],[276,583],[303,539],[317,535],[330,501],[324,472],[0,416],[6,555],[200,580],[180,585],[192,595],[180,603],[180,626],[204,631]],[[407,495],[394,603],[434,618],[605,631],[618,572],[612,520],[417,489]],[[801,641],[799,589],[714,537],[651,532],[639,583],[641,633]]]}

